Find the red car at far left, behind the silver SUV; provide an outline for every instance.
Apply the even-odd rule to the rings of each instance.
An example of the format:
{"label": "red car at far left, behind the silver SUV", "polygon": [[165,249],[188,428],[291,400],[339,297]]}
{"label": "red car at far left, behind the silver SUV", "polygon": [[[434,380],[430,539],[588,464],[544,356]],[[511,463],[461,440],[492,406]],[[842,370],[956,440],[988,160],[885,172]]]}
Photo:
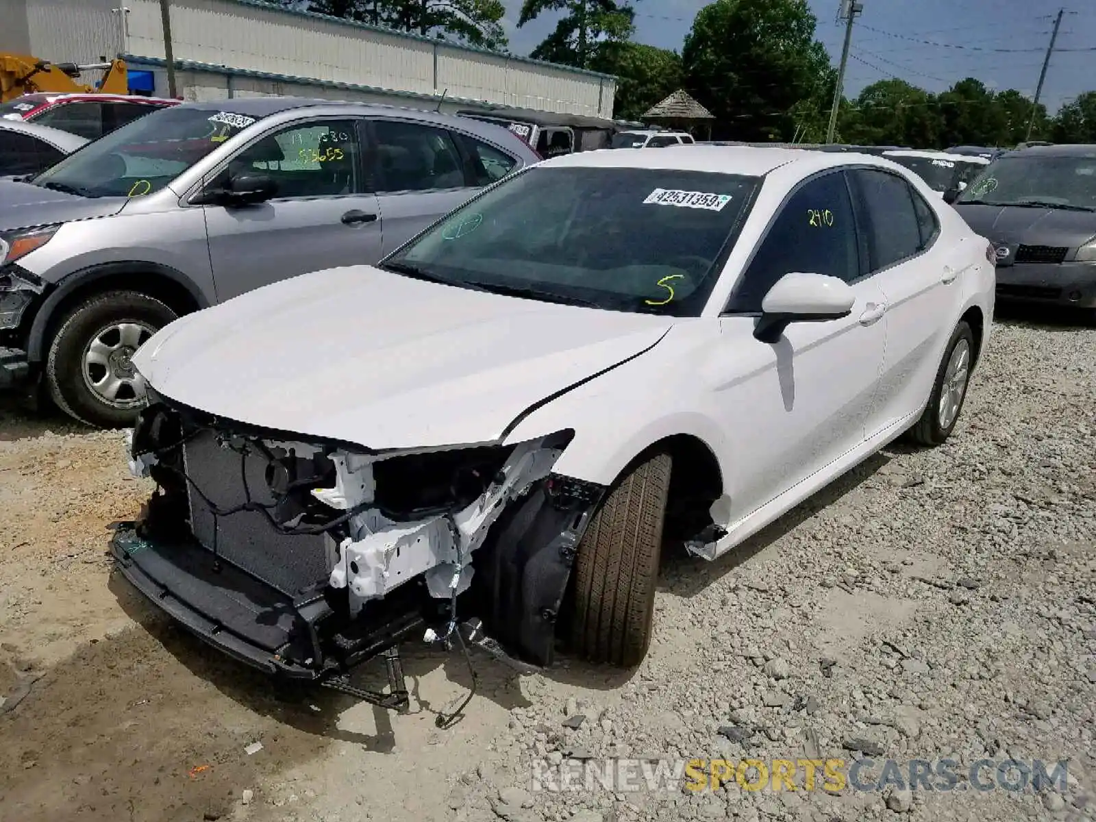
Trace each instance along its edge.
{"label": "red car at far left, behind the silver SUV", "polygon": [[0,103],[0,117],[30,121],[94,140],[132,119],[181,102],[139,94],[38,92]]}

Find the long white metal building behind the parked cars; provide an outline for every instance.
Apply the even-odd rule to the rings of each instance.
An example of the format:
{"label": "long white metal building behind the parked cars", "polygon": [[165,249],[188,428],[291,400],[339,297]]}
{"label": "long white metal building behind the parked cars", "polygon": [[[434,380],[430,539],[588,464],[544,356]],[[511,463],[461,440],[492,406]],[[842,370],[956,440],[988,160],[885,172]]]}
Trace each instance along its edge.
{"label": "long white metal building behind the parked cars", "polygon": [[[171,0],[176,93],[289,94],[429,105],[490,103],[610,118],[616,81],[259,0]],[[159,0],[0,0],[0,52],[56,62],[122,56],[167,95]],[[92,80],[95,78],[85,78]]]}

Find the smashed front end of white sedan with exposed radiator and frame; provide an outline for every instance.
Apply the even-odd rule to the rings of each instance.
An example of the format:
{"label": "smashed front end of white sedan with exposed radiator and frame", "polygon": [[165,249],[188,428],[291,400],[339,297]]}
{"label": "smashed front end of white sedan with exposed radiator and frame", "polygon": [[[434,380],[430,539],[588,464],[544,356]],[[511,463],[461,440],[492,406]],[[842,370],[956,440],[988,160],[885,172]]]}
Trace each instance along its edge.
{"label": "smashed front end of white sedan with exposed radiator and frame", "polygon": [[604,493],[552,473],[570,438],[372,453],[150,391],[130,470],[157,490],[117,527],[113,553],[156,605],[269,673],[344,677],[460,625],[482,626],[498,655],[546,666]]}

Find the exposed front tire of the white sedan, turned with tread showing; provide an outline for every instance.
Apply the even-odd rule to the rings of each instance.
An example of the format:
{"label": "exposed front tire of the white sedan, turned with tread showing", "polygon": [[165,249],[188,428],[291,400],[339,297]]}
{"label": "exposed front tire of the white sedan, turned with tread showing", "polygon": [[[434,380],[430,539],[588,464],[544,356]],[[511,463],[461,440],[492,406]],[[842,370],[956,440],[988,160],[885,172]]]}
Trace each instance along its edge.
{"label": "exposed front tire of the white sedan, turned with tread showing", "polygon": [[669,454],[636,466],[579,545],[571,641],[590,662],[633,667],[650,647],[671,467]]}

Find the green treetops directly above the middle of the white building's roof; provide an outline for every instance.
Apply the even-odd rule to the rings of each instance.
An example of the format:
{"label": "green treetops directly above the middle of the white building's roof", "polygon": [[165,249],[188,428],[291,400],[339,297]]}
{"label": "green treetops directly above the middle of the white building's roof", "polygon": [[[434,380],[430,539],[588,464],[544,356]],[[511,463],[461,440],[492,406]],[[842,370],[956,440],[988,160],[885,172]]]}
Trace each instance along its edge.
{"label": "green treetops directly above the middle of the white building's roof", "polygon": [[434,34],[483,48],[506,45],[502,0],[310,0],[309,9],[345,20]]}

